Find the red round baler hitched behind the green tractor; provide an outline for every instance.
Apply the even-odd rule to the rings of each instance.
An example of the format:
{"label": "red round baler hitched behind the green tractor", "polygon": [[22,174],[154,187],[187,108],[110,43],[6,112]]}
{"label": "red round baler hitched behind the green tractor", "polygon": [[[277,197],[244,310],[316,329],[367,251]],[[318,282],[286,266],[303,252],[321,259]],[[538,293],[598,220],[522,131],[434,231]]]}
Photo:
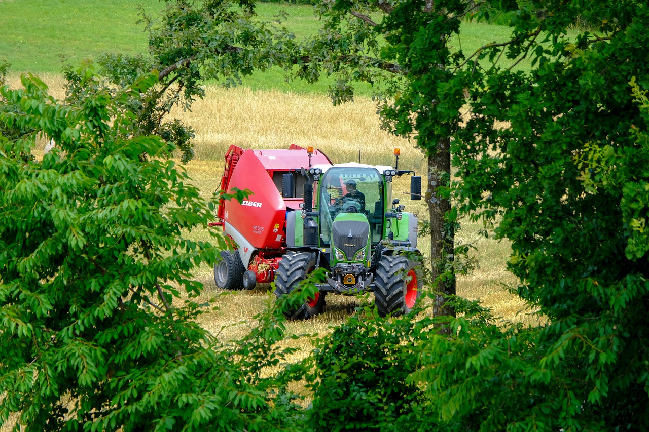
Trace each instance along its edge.
{"label": "red round baler hitched behind the green tractor", "polygon": [[[219,200],[211,226],[223,226],[234,251],[221,252],[214,265],[216,285],[227,289],[252,289],[257,282],[271,282],[286,249],[286,211],[298,210],[302,203],[302,167],[331,164],[320,150],[298,145],[288,150],[244,150],[230,145],[220,190],[249,189],[251,195],[237,200]],[[282,176],[295,175],[293,198],[282,197]],[[285,186],[286,187],[286,186]]]}

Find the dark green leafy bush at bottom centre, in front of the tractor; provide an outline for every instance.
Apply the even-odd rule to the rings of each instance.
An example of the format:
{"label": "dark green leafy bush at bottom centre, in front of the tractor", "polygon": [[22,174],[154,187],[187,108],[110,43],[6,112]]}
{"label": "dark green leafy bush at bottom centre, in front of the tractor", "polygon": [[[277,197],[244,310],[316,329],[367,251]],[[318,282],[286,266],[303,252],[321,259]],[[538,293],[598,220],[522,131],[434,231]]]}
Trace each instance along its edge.
{"label": "dark green leafy bush at bottom centre, in front of the tractor", "polygon": [[422,390],[406,380],[416,370],[417,335],[430,320],[383,320],[365,307],[315,341],[312,407],[316,431],[408,431]]}

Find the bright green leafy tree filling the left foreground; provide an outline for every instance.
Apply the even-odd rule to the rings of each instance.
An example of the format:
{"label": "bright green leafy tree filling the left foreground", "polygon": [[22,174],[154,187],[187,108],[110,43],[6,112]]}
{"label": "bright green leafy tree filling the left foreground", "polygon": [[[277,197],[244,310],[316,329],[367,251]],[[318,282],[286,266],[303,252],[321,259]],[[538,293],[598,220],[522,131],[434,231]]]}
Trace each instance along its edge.
{"label": "bright green leafy tree filling the left foreground", "polygon": [[25,161],[35,133],[0,137],[0,424],[19,413],[28,431],[267,431],[300,418],[288,376],[266,372],[285,355],[280,310],[236,342],[195,321],[208,304],[191,271],[225,242],[187,237],[210,211],[173,145],[126,136],[125,104],[156,81],[87,87],[75,103],[32,75],[0,91],[21,108],[3,125],[58,143]]}

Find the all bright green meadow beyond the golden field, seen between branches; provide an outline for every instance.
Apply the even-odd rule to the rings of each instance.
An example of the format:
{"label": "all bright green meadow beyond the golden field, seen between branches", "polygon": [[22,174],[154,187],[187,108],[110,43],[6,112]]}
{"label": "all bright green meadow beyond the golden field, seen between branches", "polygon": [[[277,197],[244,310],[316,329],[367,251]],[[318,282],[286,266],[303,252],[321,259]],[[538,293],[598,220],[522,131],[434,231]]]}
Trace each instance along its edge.
{"label": "all bright green meadow beyond the golden field, seen between branches", "polygon": [[[82,60],[95,60],[103,53],[147,54],[147,33],[138,23],[140,10],[154,15],[164,8],[159,0],[126,0],[90,2],[88,0],[53,0],[47,6],[40,2],[0,0],[0,62],[6,60],[16,74],[55,73],[61,70],[62,58],[77,65]],[[286,27],[298,38],[312,36],[319,29],[313,6],[260,3],[258,14],[272,20],[280,11],[287,16]],[[454,36],[450,45],[473,53],[486,42],[504,40],[507,27],[485,23],[463,23],[461,39]],[[519,67],[529,68],[529,62]],[[265,73],[255,72],[243,79],[252,90],[293,91],[295,93],[326,93],[333,80],[324,77],[316,84],[286,82],[284,73],[274,67]],[[357,94],[371,96],[369,85],[359,83]]]}

